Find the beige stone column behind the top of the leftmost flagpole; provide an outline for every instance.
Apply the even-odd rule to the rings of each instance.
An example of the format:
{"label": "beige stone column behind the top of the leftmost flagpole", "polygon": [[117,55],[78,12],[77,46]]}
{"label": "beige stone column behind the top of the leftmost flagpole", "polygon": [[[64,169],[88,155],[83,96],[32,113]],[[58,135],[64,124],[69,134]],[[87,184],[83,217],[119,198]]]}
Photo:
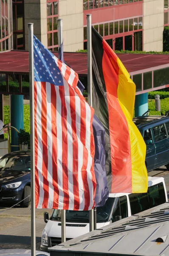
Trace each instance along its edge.
{"label": "beige stone column behind the top of the leftmost flagpole", "polygon": [[25,49],[28,50],[28,23],[34,23],[34,35],[48,47],[46,0],[24,0]]}

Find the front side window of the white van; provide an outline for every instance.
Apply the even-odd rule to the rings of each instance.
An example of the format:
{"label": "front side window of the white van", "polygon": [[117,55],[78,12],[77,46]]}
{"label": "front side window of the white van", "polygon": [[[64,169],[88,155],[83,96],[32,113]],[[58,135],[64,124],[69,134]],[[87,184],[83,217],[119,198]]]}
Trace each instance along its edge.
{"label": "front side window of the white van", "polygon": [[[121,215],[121,218],[126,218],[128,217],[128,208],[127,208],[127,196],[121,196],[119,198],[115,198],[114,202],[114,210],[113,210],[113,215],[112,215],[112,221],[115,222],[115,216]],[[120,203],[120,207],[119,207]]]}

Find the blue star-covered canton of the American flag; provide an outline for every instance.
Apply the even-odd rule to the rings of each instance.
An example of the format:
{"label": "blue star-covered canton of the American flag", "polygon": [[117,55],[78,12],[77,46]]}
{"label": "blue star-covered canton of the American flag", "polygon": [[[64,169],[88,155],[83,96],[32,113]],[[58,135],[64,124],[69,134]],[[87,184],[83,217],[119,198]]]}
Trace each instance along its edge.
{"label": "blue star-covered canton of the American flag", "polygon": [[58,58],[52,54],[34,35],[34,81],[63,85]]}

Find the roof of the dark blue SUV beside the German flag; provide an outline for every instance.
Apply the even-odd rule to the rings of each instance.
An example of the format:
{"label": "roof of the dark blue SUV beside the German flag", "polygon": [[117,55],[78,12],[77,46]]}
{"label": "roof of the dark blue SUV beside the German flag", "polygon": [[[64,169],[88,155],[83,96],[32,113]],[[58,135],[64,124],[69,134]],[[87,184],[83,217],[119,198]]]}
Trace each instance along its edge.
{"label": "roof of the dark blue SUV beside the German flag", "polygon": [[166,121],[169,122],[169,116],[138,116],[133,118],[138,129],[150,128]]}

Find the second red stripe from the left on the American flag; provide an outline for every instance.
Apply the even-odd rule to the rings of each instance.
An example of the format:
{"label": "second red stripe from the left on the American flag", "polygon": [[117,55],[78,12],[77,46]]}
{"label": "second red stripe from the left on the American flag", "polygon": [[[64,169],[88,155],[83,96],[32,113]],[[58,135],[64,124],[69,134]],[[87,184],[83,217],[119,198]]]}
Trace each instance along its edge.
{"label": "second red stripe from the left on the American flag", "polygon": [[41,111],[41,123],[42,123],[42,175],[43,175],[43,189],[44,198],[42,208],[48,208],[49,197],[49,182],[48,182],[48,137],[47,137],[47,106],[46,106],[46,83],[41,82],[41,94],[42,94],[42,111]]}

